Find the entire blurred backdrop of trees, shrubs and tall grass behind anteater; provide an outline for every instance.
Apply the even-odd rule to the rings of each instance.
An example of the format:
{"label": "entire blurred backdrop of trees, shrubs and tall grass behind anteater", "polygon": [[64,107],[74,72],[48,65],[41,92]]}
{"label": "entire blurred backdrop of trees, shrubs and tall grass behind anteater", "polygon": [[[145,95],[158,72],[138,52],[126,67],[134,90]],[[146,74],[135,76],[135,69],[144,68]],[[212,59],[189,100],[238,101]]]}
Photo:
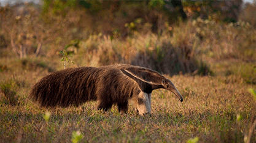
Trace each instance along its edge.
{"label": "entire blurred backdrop of trees, shrubs and tall grass behind anteater", "polygon": [[254,23],[239,21],[254,4],[242,12],[241,4],[45,0],[6,5],[0,17],[1,56],[53,58],[65,47],[77,65],[128,63],[169,75],[197,70],[202,75],[210,71],[201,69],[205,57],[255,59]]}

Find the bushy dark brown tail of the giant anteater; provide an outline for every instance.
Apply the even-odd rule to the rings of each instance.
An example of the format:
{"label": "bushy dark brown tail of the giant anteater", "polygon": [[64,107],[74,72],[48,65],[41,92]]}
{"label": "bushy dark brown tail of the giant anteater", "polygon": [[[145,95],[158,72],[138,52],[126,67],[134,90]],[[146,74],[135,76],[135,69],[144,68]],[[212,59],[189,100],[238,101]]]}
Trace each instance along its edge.
{"label": "bushy dark brown tail of the giant anteater", "polygon": [[96,73],[93,67],[55,71],[33,86],[29,98],[47,108],[79,106],[85,101],[96,99],[93,97],[95,84],[91,83],[91,77]]}

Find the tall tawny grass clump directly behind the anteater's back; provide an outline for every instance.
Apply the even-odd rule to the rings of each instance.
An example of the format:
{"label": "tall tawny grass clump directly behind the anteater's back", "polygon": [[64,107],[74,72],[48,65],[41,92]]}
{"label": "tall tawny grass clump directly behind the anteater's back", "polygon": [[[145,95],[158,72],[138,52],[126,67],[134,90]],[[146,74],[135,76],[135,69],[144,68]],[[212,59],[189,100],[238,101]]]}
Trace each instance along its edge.
{"label": "tall tawny grass clump directly behind the anteater's back", "polygon": [[87,40],[81,41],[80,52],[83,54],[80,56],[87,62],[86,65],[93,66],[125,63],[148,67],[169,75],[195,71],[196,60],[193,57],[184,57],[188,59],[182,60],[169,39],[169,34],[159,36],[152,32],[134,32],[125,40],[101,34],[90,35]]}

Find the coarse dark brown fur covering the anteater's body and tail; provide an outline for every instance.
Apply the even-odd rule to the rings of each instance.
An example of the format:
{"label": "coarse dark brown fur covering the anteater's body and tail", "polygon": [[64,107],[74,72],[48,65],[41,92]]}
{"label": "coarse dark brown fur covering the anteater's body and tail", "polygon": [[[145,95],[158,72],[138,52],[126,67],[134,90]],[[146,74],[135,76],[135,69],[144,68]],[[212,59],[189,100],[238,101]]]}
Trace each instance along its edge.
{"label": "coarse dark brown fur covering the anteater's body and tail", "polygon": [[98,100],[98,109],[108,110],[117,104],[118,110],[128,110],[128,100],[140,92],[151,93],[164,88],[166,78],[156,71],[133,65],[79,67],[55,71],[37,82],[29,97],[44,107],[79,106]]}

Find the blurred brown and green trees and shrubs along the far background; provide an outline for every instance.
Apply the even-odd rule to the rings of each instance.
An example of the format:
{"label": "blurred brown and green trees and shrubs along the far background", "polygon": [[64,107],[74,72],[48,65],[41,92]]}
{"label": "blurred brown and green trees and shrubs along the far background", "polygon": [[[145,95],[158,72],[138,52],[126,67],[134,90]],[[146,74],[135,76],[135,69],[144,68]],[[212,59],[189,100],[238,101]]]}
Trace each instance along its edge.
{"label": "blurred brown and green trees and shrubs along the far background", "polygon": [[[18,57],[44,48],[63,50],[71,40],[90,34],[125,39],[134,32],[161,34],[184,20],[200,17],[216,22],[235,22],[242,0],[233,1],[85,1],[43,0],[42,5],[0,7],[0,45],[9,46]],[[19,10],[23,9],[23,12]],[[255,25],[255,5],[247,5],[241,20]],[[52,53],[55,54],[55,53]]]}

